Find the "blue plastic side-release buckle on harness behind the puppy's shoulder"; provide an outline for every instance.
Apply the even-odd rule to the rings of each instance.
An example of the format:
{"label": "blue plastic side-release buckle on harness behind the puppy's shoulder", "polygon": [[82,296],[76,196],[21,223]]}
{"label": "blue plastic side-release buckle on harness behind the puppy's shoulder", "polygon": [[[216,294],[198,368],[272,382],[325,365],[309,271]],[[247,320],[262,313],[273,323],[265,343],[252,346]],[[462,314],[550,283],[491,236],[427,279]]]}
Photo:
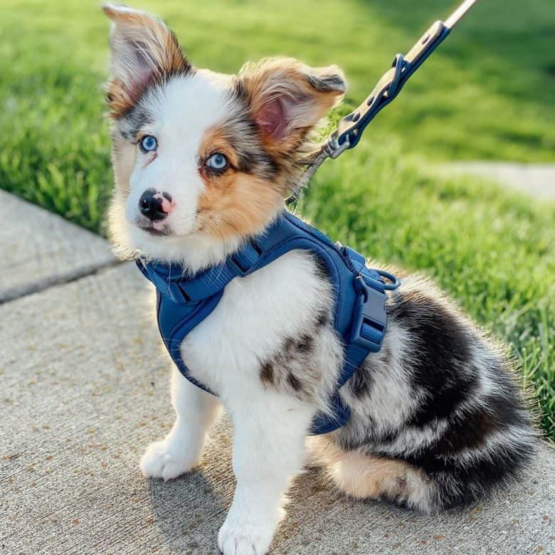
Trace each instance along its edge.
{"label": "blue plastic side-release buckle on harness behind the puppy's shoulder", "polygon": [[354,308],[349,344],[377,352],[386,333],[386,293],[367,285],[362,275],[354,278],[354,285],[359,299]]}

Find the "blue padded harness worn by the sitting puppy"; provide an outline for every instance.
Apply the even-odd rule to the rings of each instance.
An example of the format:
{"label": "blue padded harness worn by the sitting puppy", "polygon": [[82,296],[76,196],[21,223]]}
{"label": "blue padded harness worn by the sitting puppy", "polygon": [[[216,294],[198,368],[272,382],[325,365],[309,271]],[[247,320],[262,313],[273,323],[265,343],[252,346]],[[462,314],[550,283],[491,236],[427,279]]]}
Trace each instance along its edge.
{"label": "blue padded harness worn by the sitting puppy", "polygon": [[[339,244],[291,213],[284,211],[270,228],[245,243],[225,262],[186,277],[183,268],[137,261],[139,270],[157,289],[158,327],[166,349],[186,379],[208,393],[191,376],[181,359],[181,343],[191,329],[210,314],[231,280],[270,264],[291,250],[308,250],[327,270],[334,291],[334,327],[344,344],[344,366],[329,400],[332,411],[312,421],[313,435],[336,430],[349,420],[349,407],[339,388],[361,366],[369,353],[379,351],[386,332],[386,290],[399,282],[383,270],[366,268],[364,256]],[[173,271],[172,271],[173,270]],[[386,277],[391,283],[385,283]]]}

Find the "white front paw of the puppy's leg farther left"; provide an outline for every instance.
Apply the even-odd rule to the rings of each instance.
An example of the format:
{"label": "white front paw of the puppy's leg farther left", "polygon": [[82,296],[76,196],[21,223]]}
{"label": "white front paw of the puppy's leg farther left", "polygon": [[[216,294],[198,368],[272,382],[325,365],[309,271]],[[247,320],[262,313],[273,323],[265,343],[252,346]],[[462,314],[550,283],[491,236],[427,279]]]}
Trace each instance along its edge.
{"label": "white front paw of the puppy's leg farther left", "polygon": [[164,482],[189,472],[199,463],[199,455],[187,453],[187,445],[172,445],[171,442],[151,443],[142,455],[140,467],[147,478],[162,478]]}

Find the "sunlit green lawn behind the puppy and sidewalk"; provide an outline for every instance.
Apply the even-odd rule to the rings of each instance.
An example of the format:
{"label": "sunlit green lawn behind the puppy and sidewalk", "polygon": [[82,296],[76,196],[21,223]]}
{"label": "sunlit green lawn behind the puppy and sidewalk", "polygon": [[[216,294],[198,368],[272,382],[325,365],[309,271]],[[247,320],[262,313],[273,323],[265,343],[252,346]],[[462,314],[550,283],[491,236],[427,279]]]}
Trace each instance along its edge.
{"label": "sunlit green lawn behind the puppy and sidewalk", "polygon": [[[277,53],[338,63],[350,83],[343,113],[453,3],[137,5],[164,16],[201,67],[233,72]],[[96,2],[4,0],[0,9],[0,186],[101,232],[112,183],[107,30]],[[431,275],[504,339],[552,439],[555,206],[437,176],[430,161],[555,160],[554,33],[552,0],[481,0],[300,206],[332,237]]]}

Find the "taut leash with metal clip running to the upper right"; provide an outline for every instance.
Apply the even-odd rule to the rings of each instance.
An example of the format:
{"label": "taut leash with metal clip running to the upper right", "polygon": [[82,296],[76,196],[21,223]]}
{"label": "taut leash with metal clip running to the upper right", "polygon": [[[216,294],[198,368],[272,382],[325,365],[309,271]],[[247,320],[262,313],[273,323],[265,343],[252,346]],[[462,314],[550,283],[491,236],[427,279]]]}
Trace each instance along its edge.
{"label": "taut leash with metal clip running to the upper right", "polygon": [[312,176],[325,160],[336,159],[347,149],[356,147],[366,126],[401,92],[408,78],[420,68],[426,58],[435,51],[435,48],[445,41],[451,29],[476,2],[477,0],[463,1],[445,21],[435,21],[405,56],[403,54],[395,56],[391,69],[381,76],[366,100],[356,110],[339,120],[337,129],[326,141],[315,152],[308,154],[303,159],[303,162],[307,164],[307,169],[297,181],[297,186],[291,196],[286,200],[287,204],[299,198],[301,191],[306,188]]}

